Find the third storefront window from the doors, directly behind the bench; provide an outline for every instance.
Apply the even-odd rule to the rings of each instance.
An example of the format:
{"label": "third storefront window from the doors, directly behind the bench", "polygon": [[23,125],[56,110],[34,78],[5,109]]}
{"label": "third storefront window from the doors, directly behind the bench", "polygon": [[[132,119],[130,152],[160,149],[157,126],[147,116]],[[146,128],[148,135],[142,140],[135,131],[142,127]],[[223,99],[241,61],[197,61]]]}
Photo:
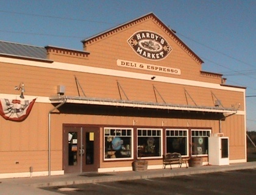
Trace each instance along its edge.
{"label": "third storefront window from the doors, directly behind the bench", "polygon": [[166,152],[178,152],[188,155],[188,130],[166,129]]}

